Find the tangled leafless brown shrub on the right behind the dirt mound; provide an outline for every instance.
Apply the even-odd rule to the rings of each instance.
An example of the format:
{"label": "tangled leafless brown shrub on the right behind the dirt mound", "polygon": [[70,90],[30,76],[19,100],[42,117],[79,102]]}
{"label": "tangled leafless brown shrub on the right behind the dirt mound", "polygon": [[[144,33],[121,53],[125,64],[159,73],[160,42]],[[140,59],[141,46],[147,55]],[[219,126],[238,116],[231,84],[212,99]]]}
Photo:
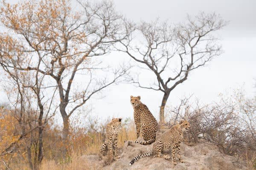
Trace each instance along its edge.
{"label": "tangled leafless brown shrub on the right behind the dirt mound", "polygon": [[212,105],[202,105],[189,98],[172,109],[169,125],[180,119],[190,122],[189,142],[211,142],[231,156],[255,163],[256,154],[256,99],[246,99],[241,93]]}

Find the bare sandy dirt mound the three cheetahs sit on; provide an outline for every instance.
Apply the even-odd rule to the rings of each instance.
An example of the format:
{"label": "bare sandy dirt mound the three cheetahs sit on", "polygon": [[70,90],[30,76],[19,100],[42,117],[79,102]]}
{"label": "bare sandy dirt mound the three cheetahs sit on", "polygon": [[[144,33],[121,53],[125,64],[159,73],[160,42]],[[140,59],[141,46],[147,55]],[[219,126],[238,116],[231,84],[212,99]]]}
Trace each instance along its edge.
{"label": "bare sandy dirt mound the three cheetahs sit on", "polygon": [[[163,132],[160,132],[163,133]],[[160,135],[160,134],[159,134]],[[177,160],[177,165],[172,165],[172,159],[144,157],[129,166],[129,162],[135,156],[151,150],[153,144],[141,145],[134,142],[125,142],[125,146],[119,150],[120,159],[111,161],[108,156],[99,161],[99,156],[82,156],[92,169],[103,170],[247,170],[246,164],[237,161],[235,156],[227,156],[218,150],[214,144],[180,144],[181,157],[185,163]],[[164,151],[171,155],[171,150]],[[176,156],[177,158],[177,156]]]}

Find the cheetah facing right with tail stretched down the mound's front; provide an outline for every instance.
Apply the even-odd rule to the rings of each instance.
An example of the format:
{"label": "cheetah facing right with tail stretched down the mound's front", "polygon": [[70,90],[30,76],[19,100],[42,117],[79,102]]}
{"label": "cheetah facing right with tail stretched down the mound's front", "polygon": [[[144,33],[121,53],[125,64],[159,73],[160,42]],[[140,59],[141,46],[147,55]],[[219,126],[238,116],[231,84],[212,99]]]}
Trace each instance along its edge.
{"label": "cheetah facing right with tail stretched down the mound's front", "polygon": [[180,124],[174,125],[167,133],[163,134],[163,136],[157,139],[153,145],[153,149],[150,152],[136,156],[130,161],[129,165],[131,166],[138,159],[145,156],[151,156],[152,154],[155,154],[155,157],[157,158],[170,159],[171,156],[162,154],[162,149],[169,147],[172,147],[172,163],[174,165],[177,164],[175,157],[176,149],[178,150],[178,159],[180,162],[184,162],[180,156],[180,142],[183,139],[183,131],[187,131],[189,128],[189,122],[186,120],[180,121]]}

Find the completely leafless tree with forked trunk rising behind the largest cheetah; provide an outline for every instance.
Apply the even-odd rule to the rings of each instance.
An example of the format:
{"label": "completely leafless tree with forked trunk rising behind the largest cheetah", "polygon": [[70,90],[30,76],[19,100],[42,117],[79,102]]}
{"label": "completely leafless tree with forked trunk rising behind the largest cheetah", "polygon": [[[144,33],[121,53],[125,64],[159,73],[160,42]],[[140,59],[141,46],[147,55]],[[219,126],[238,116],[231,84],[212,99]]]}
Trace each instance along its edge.
{"label": "completely leafless tree with forked trunk rising behind the largest cheetah", "polygon": [[160,122],[165,121],[164,108],[170,92],[183,83],[192,70],[221,54],[221,45],[212,33],[226,24],[215,13],[200,13],[195,18],[188,16],[186,23],[174,27],[159,21],[142,22],[134,34],[120,41],[122,47],[118,50],[155,76],[149,85],[143,85],[139,78],[133,82],[141,88],[163,92]]}

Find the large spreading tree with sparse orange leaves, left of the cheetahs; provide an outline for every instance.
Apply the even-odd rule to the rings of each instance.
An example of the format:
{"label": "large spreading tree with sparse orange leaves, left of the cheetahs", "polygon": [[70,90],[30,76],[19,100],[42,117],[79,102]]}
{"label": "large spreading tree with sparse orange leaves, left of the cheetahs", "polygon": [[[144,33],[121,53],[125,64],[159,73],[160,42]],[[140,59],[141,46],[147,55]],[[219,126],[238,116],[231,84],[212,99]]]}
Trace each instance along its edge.
{"label": "large spreading tree with sparse orange leaves, left of the cheetahs", "polygon": [[[115,42],[127,37],[128,29],[121,29],[122,16],[111,2],[79,1],[78,5],[82,12],[72,10],[68,0],[14,6],[3,2],[0,13],[2,24],[13,33],[0,37],[6,42],[1,47],[3,58],[15,59],[17,70],[45,76],[44,83],[57,88],[64,140],[69,133],[69,118],[76,109],[127,71],[117,69],[109,75],[112,78],[101,78],[94,72],[108,71],[94,57],[108,54]],[[9,49],[19,55],[8,54]],[[78,79],[84,79],[83,83],[79,84]]]}

